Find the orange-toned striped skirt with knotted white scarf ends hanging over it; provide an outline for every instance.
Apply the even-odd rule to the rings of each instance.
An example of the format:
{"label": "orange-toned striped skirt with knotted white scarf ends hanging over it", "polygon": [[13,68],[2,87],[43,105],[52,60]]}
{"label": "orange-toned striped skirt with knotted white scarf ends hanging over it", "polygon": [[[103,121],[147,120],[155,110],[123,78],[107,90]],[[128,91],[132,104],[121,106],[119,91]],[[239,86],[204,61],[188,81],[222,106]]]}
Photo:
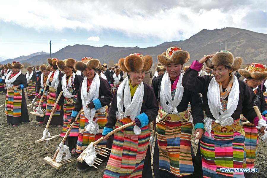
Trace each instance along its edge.
{"label": "orange-toned striped skirt with knotted white scarf ends hanging over it", "polygon": [[[78,120],[80,120],[80,124],[79,124],[79,136],[78,136],[77,149],[76,149],[77,153],[81,154],[82,151],[85,150],[85,148],[91,142],[95,142],[96,140],[102,137],[103,129],[105,127],[105,124],[107,123],[107,117],[105,116],[104,113],[96,112],[96,115],[93,118],[93,120],[96,120],[96,118],[97,118],[97,123],[99,125],[99,133],[94,135],[84,130],[85,126],[88,125],[88,119],[85,117],[84,112],[83,111],[81,112],[80,117],[78,118]],[[103,140],[97,145],[106,147],[107,140]]]}

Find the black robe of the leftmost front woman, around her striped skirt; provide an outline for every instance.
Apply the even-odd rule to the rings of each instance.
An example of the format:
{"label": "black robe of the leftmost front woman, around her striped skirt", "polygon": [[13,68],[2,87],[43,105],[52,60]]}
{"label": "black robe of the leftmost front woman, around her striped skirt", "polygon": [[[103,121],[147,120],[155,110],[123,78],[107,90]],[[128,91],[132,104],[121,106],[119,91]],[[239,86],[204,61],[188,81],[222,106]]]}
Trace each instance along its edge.
{"label": "black robe of the leftmost front woman, around her striped skirt", "polygon": [[[6,82],[3,79],[1,81],[1,83],[6,83]],[[27,109],[26,98],[25,98],[25,93],[24,93],[24,88],[28,87],[26,75],[20,74],[20,76],[18,76],[18,78],[13,83],[13,85],[14,86],[23,85],[22,98],[21,98],[21,116],[20,117],[7,116],[7,123],[8,124],[19,124],[19,123],[22,123],[22,122],[30,122],[28,109]]]}

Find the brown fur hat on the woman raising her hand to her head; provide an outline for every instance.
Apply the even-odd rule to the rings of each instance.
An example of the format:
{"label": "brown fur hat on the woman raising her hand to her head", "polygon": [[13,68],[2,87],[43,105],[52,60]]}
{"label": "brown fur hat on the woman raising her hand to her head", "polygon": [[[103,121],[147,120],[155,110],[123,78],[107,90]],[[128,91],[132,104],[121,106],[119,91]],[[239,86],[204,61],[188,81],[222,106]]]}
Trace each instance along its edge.
{"label": "brown fur hat on the woman raising her hand to her head", "polygon": [[205,63],[209,68],[212,68],[213,66],[225,65],[231,67],[233,71],[236,71],[239,69],[242,63],[242,58],[236,57],[234,59],[233,54],[231,52],[221,50],[215,53],[212,60],[207,59]]}

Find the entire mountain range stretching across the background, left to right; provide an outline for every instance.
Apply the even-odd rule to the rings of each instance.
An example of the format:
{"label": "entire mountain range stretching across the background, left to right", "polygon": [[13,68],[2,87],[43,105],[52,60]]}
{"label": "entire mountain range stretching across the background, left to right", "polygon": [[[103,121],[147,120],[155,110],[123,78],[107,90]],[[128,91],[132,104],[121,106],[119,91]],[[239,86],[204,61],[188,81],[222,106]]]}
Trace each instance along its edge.
{"label": "entire mountain range stretching across the background, left to right", "polygon": [[[151,55],[153,62],[157,63],[157,55],[166,51],[168,47],[181,47],[190,53],[190,60],[185,65],[195,59],[201,59],[205,54],[214,54],[220,50],[225,50],[225,42],[227,41],[227,50],[231,51],[233,55],[243,58],[243,64],[250,64],[252,62],[266,64],[267,61],[267,34],[257,33],[240,28],[222,28],[207,30],[203,29],[197,34],[191,36],[189,39],[164,42],[160,45],[147,48],[139,47],[112,47],[105,45],[103,47],[94,47],[89,45],[74,45],[66,46],[52,57],[58,59],[74,58],[80,60],[85,56],[97,58],[101,63],[109,63],[113,60],[114,63],[120,58],[132,53],[142,53],[143,55]],[[39,54],[34,56],[20,56],[20,62],[28,62],[31,65],[47,63],[49,54]],[[23,59],[22,59],[23,58]],[[16,61],[17,58],[11,59]],[[5,61],[6,63],[6,61]]]}

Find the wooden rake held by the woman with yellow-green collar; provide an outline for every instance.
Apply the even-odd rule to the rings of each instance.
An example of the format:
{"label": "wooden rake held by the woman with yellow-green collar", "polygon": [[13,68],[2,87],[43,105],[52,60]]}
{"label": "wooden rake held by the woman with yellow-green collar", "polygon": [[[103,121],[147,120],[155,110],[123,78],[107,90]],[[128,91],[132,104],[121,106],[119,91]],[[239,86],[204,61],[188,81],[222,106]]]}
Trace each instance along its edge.
{"label": "wooden rake held by the woman with yellow-green collar", "polygon": [[[113,131],[109,132],[109,133],[107,134],[107,136],[111,136],[112,134],[115,134],[117,131],[120,131],[120,130],[122,130],[122,129],[124,129],[124,128],[127,128],[127,127],[129,127],[129,126],[131,126],[131,125],[134,125],[134,122],[130,122],[130,123],[128,123],[128,124],[122,125],[122,126],[116,128],[116,129],[114,129]],[[85,150],[83,150],[83,152],[80,154],[80,156],[77,158],[77,161],[79,161],[80,163],[82,163],[82,161],[84,161],[84,159],[83,159],[82,157],[83,157],[83,156],[86,156],[86,155],[87,155],[86,151],[87,151],[87,150],[90,150],[91,148],[94,148],[95,151],[96,151],[96,153],[97,153],[98,155],[107,157],[107,155],[109,155],[109,154],[108,154],[108,153],[109,153],[108,150],[110,150],[110,149],[109,149],[109,148],[106,148],[106,147],[101,147],[101,146],[97,145],[99,142],[101,142],[101,141],[103,141],[103,140],[104,140],[104,137],[102,136],[100,139],[96,140],[95,142],[91,142],[91,143],[85,148]],[[95,168],[97,169],[97,167],[96,167],[94,164],[100,166],[99,163],[102,163],[102,162],[104,162],[104,161],[101,160],[101,159],[99,159],[99,158],[97,158],[97,157],[95,157],[92,166],[95,167]]]}

